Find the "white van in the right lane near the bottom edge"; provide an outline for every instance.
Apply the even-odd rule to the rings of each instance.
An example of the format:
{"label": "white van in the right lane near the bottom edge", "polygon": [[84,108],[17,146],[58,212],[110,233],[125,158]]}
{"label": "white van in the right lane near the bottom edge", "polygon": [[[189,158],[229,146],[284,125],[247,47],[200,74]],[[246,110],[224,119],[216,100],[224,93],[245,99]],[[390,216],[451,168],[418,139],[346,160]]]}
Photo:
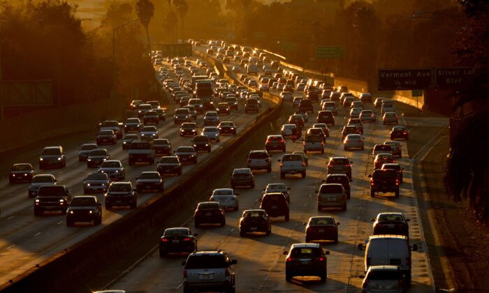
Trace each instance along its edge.
{"label": "white van in the right lane near the bottom edge", "polygon": [[[404,273],[406,283],[411,282],[411,249],[418,250],[416,244],[411,248],[403,235],[372,235],[366,242],[365,272],[370,266],[396,265]],[[358,250],[363,247],[363,243],[358,244]]]}

